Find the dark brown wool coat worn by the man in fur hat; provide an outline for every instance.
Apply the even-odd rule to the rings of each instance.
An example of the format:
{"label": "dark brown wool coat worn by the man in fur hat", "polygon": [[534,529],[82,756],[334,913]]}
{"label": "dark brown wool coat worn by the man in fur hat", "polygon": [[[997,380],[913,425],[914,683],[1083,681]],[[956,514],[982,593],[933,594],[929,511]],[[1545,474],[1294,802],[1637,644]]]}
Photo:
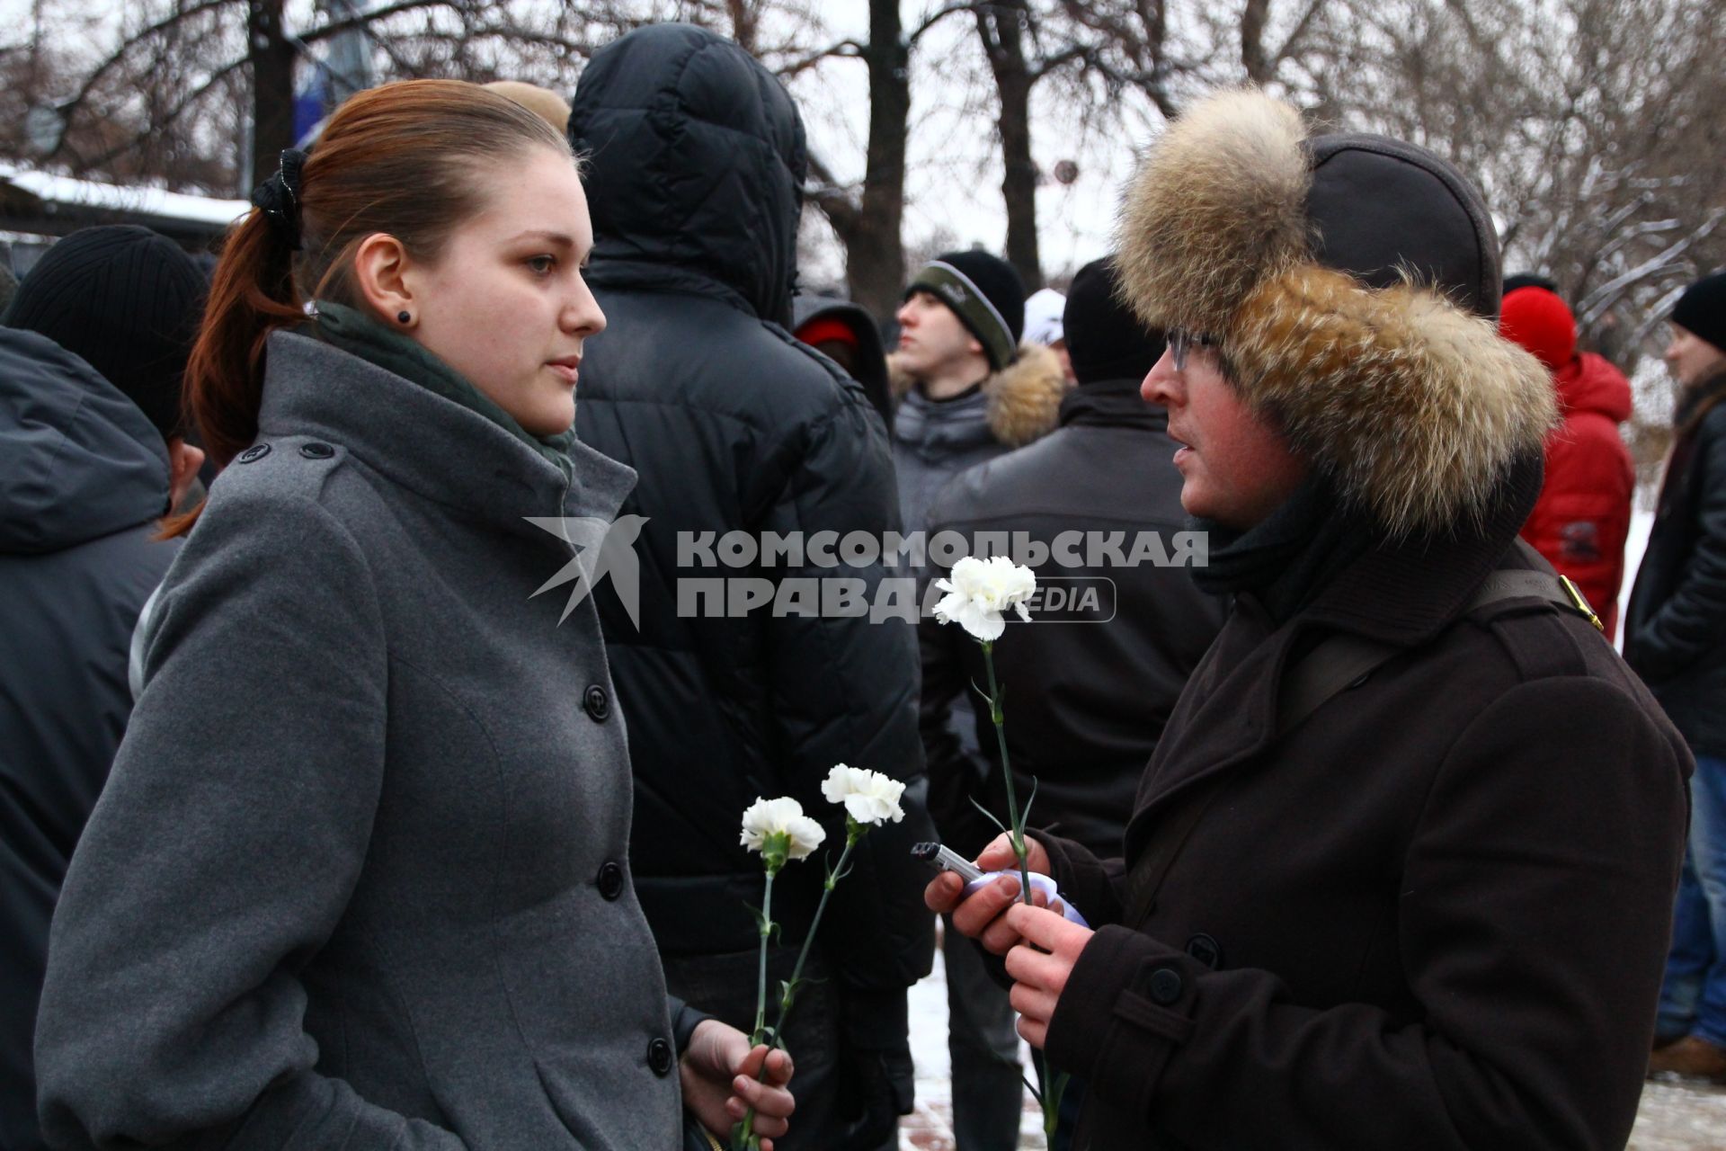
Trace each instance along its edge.
{"label": "dark brown wool coat worn by the man in fur hat", "polygon": [[[1241,597],[1125,859],[1046,840],[1099,925],[1048,1034],[1077,1148],[1624,1146],[1690,756],[1581,616],[1464,614],[1521,507],[1370,550],[1282,626]],[[1403,651],[1274,739],[1291,651],[1332,632]],[[1129,899],[1132,868],[1167,873]]]}

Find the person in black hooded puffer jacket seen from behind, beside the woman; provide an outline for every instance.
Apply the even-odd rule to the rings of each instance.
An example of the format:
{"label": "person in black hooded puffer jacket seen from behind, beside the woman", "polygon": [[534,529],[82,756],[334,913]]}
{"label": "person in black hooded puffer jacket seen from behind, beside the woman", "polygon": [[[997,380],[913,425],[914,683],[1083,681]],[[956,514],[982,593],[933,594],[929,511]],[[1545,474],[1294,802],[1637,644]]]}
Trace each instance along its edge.
{"label": "person in black hooded puffer jacket seen from behind, beside the woman", "polygon": [[[630,878],[671,991],[749,1027],[761,863],[739,846],[744,809],[792,796],[844,842],[844,811],[822,796],[828,770],[844,761],[904,780],[904,821],[858,846],[822,920],[787,1032],[797,1120],[778,1141],[898,1146],[915,1084],[906,989],[934,954],[925,871],[910,856],[930,835],[915,630],[772,604],[728,616],[692,594],[723,576],[734,588],[832,576],[868,602],[885,576],[879,556],[830,554],[823,566],[811,544],[796,559],[720,566],[701,550],[728,533],[882,538],[899,526],[885,428],[863,387],[784,328],[803,121],[758,60],[687,24],[597,52],[571,104],[595,233],[587,278],[609,318],[582,362],[576,428],[640,473],[621,511],[647,518],[639,614],[613,583],[599,588],[635,778]],[[773,887],[773,978],[791,975],[822,880],[811,863]]]}

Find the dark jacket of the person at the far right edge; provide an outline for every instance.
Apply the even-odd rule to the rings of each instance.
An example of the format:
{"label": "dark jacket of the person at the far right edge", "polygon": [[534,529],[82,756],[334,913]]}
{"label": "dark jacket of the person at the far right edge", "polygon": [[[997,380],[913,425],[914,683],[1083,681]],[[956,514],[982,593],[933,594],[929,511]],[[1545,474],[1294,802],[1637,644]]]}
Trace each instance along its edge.
{"label": "dark jacket of the person at the far right edge", "polygon": [[1624,659],[1693,752],[1726,756],[1726,371],[1690,388],[1676,423]]}

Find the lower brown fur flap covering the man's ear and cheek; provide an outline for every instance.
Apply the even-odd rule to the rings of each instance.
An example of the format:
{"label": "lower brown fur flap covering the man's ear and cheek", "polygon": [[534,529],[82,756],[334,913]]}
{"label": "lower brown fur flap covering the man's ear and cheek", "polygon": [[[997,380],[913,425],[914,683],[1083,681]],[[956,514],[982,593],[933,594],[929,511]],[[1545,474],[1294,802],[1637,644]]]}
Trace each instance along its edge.
{"label": "lower brown fur flap covering the man's ear and cheek", "polygon": [[1315,264],[1260,285],[1225,352],[1241,395],[1391,535],[1481,516],[1559,421],[1552,376],[1490,321]]}

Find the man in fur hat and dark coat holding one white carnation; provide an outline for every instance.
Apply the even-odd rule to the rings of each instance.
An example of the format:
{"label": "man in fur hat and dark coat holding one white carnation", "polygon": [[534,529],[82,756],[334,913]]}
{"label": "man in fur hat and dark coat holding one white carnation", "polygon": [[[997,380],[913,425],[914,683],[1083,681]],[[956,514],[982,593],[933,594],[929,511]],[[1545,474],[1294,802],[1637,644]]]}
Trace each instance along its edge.
{"label": "man in fur hat and dark coat holding one white carnation", "polygon": [[1086,1080],[1079,1148],[1622,1148],[1690,752],[1517,544],[1557,409],[1479,193],[1224,93],[1150,155],[1122,273],[1234,607],[1124,858],[1036,835],[1094,930],[1005,878],[930,906]]}

